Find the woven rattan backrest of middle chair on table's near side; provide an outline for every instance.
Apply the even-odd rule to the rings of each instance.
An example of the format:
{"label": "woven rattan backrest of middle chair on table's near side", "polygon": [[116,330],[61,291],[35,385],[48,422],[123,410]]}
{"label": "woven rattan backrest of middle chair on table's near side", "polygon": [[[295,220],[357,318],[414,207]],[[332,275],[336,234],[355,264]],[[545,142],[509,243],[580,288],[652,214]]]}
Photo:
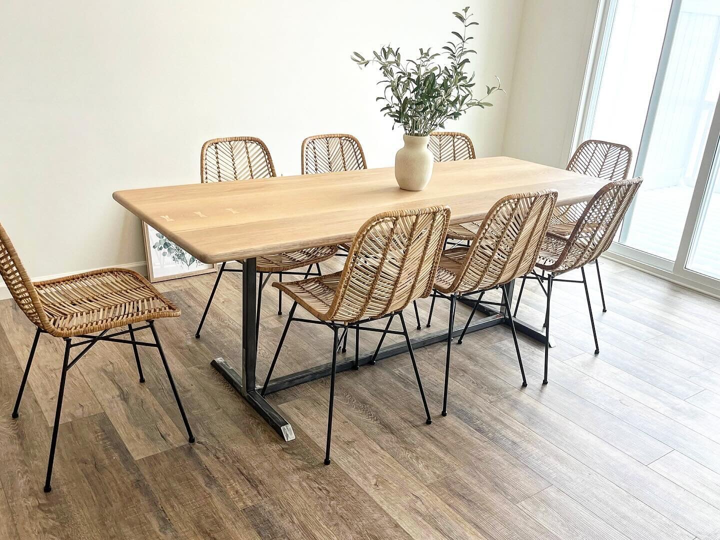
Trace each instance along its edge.
{"label": "woven rattan backrest of middle chair on table's near side", "polygon": [[455,292],[489,289],[531,271],[545,238],[557,192],[508,195],[487,212],[470,244]]}

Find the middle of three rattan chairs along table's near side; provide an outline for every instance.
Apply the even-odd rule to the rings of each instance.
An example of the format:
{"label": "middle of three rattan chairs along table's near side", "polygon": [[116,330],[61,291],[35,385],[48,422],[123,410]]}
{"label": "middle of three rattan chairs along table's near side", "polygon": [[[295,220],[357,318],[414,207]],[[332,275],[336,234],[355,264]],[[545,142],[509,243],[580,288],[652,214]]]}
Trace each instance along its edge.
{"label": "middle of three rattan chairs along table's near side", "polygon": [[[546,190],[536,193],[508,195],[496,202],[469,247],[451,248],[443,252],[435,281],[435,297],[450,301],[448,336],[446,345],[445,389],[442,415],[447,415],[450,354],[455,323],[455,308],[459,298],[480,293],[462,330],[458,343],[462,343],[467,329],[480,304],[498,305],[510,320],[523,387],[528,382],[518,346],[513,316],[510,315],[508,284],[530,272],[536,263],[540,246],[557,202],[557,192]],[[485,292],[500,289],[502,302],[482,300]]]}

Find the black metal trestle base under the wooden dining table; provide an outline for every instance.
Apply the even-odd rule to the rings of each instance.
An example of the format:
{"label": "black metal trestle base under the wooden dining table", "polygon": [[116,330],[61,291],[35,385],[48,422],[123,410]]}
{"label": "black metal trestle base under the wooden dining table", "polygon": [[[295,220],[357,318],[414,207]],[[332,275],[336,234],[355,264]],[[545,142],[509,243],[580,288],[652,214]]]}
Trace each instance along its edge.
{"label": "black metal trestle base under the wooden dining table", "polygon": [[[510,303],[512,303],[513,296],[513,284],[508,287],[508,296],[510,297]],[[461,302],[474,305],[474,300],[470,298],[462,298]],[[505,318],[504,310],[495,310],[490,306],[480,305],[478,311],[484,312],[487,315],[485,318],[479,319],[469,325],[467,333],[477,332],[478,330],[484,330],[491,326],[508,324],[508,320]],[[290,423],[278,413],[272,405],[260,395],[260,390],[255,384],[255,368],[257,363],[257,343],[256,343],[256,269],[255,259],[246,259],[243,262],[243,365],[241,371],[238,372],[225,359],[217,358],[214,359],[210,365],[217,369],[222,377],[225,377],[230,385],[237,390],[237,392],[245,398],[245,400],[257,411],[259,415],[273,428],[284,441],[292,441],[295,438],[294,431]],[[534,328],[527,323],[523,323],[520,320],[515,320],[515,328],[518,332],[524,333],[531,338],[545,343],[545,334],[541,330]],[[463,328],[454,328],[452,330],[453,337],[460,336]],[[420,336],[411,340],[413,343],[413,349],[418,349],[432,345],[433,343],[440,343],[446,341],[447,330],[438,330],[437,332],[428,333],[425,336]],[[552,343],[551,343],[552,346]],[[404,341],[393,343],[392,345],[385,346],[379,350],[376,359],[390,358],[397,354],[404,354],[408,352],[408,346]],[[369,364],[374,354],[366,354],[361,356],[358,360],[359,366]],[[355,359],[348,359],[346,361],[338,361],[336,372],[344,372],[347,369],[352,369],[355,365]],[[289,375],[283,375],[271,380],[268,384],[266,394],[271,392],[279,392],[279,390],[285,390],[290,387],[297,386],[297,384],[303,384],[310,382],[315,379],[322,377],[328,377],[330,375],[331,364],[325,363],[320,366],[315,366],[310,369],[303,369],[300,372],[295,372]]]}

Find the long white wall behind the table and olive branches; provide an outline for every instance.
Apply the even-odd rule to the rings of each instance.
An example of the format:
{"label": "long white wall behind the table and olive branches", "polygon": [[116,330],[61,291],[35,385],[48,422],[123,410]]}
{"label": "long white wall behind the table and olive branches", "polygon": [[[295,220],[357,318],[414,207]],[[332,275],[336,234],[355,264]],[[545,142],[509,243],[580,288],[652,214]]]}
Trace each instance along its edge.
{"label": "long white wall behind the table and olive branches", "polygon": [[[468,2],[478,82],[513,89],[523,0]],[[118,189],[199,181],[204,140],[256,135],[278,174],[300,174],[306,135],[350,132],[388,166],[401,132],[381,117],[375,71],[353,50],[440,48],[437,0],[3,0],[0,222],[31,276],[145,260]],[[446,128],[501,153],[508,96]]]}

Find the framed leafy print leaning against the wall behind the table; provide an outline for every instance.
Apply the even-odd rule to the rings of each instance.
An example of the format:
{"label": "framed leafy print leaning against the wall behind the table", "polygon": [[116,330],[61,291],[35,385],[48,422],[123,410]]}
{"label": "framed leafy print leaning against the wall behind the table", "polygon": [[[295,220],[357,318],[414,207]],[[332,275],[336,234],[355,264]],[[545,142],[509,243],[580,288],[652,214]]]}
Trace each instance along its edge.
{"label": "framed leafy print leaning against the wall behind the table", "polygon": [[145,222],[143,222],[143,238],[150,283],[210,274],[216,270],[215,264],[205,264],[197,260]]}

